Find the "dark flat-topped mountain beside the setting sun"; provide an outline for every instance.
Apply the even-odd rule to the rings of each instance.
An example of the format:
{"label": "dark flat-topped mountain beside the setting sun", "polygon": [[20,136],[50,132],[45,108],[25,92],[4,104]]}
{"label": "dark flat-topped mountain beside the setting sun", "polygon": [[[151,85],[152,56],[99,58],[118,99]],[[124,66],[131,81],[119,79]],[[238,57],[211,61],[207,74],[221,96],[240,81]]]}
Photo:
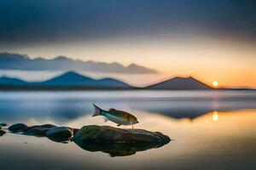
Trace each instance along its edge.
{"label": "dark flat-topped mountain beside the setting sun", "polygon": [[159,82],[146,87],[147,89],[163,90],[207,90],[212,89],[207,84],[196,80],[194,77],[174,77],[164,82]]}

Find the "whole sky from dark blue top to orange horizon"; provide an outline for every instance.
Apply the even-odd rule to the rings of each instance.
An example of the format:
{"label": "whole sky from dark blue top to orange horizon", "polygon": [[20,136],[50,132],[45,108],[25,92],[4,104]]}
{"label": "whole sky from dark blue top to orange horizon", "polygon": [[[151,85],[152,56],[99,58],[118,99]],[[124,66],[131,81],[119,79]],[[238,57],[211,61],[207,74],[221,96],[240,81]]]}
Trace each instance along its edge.
{"label": "whole sky from dark blue top to orange horizon", "polygon": [[145,82],[193,76],[256,88],[255,8],[253,0],[2,0],[0,52],[160,71]]}

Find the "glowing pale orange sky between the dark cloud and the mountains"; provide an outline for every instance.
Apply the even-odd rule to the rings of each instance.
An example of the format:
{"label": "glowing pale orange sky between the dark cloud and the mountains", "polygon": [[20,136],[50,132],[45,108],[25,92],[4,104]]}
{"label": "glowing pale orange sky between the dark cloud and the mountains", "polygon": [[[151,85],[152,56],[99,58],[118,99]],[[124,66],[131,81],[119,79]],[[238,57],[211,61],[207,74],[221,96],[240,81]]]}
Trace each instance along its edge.
{"label": "glowing pale orange sky between the dark cloud and the mountains", "polygon": [[[144,84],[168,77],[193,76],[208,84],[218,81],[221,87],[256,88],[256,47],[237,39],[151,35],[27,46],[11,52],[31,57],[65,55],[73,59],[119,62],[123,65],[136,63],[160,71],[159,75],[145,76]],[[131,80],[125,76],[118,77],[138,84],[137,77]]]}

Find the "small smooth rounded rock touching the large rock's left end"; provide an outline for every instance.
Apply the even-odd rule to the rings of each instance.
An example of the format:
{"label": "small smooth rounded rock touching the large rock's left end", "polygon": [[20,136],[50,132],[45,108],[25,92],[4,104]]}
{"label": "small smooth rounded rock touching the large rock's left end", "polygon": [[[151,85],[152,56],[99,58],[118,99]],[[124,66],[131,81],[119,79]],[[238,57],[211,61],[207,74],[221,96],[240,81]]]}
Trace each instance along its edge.
{"label": "small smooth rounded rock touching the large rock's left end", "polygon": [[70,127],[54,127],[49,129],[46,132],[46,136],[51,138],[62,138],[62,139],[69,139],[73,136],[73,131]]}

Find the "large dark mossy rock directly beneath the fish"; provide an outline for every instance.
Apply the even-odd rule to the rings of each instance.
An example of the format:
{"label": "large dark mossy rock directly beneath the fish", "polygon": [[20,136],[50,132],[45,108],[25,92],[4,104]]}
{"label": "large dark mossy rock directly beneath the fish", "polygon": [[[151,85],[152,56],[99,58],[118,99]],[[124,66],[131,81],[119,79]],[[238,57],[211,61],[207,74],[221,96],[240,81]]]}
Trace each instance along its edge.
{"label": "large dark mossy rock directly beneath the fish", "polygon": [[130,156],[137,151],[158,148],[171,139],[143,129],[122,129],[108,126],[84,126],[73,141],[84,150],[102,151],[110,156]]}

